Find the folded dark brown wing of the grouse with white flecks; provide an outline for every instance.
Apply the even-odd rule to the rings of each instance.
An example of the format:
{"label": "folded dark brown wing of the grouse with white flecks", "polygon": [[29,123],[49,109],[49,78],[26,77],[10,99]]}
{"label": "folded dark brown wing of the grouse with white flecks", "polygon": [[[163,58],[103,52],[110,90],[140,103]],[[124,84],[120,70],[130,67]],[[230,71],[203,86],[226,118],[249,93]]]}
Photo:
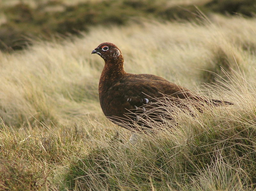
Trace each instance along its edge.
{"label": "folded dark brown wing of the grouse with white flecks", "polygon": [[160,121],[159,113],[151,112],[155,114],[148,115],[150,113],[148,111],[160,106],[157,98],[162,98],[164,95],[170,95],[173,99],[185,98],[188,96],[184,93],[185,90],[163,78],[150,74],[127,76],[108,89],[106,92],[108,100],[105,100],[104,103],[109,104],[109,109],[103,108],[103,112],[107,111],[104,114],[109,119],[112,118],[112,121],[124,118],[123,121],[130,120],[131,123],[136,122],[140,126],[144,126],[142,118],[154,118],[154,121],[159,118]]}

